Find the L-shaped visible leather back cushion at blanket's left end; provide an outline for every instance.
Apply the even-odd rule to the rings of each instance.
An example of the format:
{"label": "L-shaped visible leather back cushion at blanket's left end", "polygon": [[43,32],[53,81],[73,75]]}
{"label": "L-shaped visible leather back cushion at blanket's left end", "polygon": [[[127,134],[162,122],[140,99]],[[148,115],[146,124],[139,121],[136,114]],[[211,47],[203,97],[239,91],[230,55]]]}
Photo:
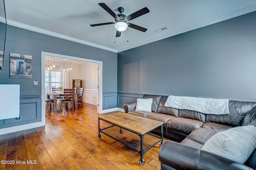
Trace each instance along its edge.
{"label": "L-shaped visible leather back cushion at blanket's left end", "polygon": [[166,115],[172,115],[172,116],[178,117],[178,111],[179,111],[178,109],[174,109],[172,107],[165,107],[164,106],[167,98],[168,98],[168,96],[161,96],[157,113],[163,113],[163,114],[166,114]]}

